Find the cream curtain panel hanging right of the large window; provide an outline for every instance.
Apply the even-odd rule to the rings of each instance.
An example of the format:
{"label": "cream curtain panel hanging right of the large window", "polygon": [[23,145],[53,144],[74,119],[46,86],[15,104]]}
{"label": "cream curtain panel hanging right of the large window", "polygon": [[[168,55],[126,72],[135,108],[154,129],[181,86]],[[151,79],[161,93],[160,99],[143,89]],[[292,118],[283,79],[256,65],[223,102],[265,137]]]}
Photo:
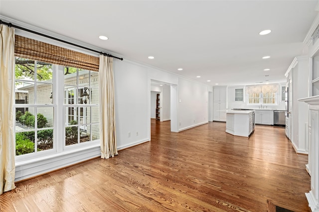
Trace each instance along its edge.
{"label": "cream curtain panel hanging right of the large window", "polygon": [[101,158],[118,154],[115,128],[113,58],[100,55],[100,140]]}

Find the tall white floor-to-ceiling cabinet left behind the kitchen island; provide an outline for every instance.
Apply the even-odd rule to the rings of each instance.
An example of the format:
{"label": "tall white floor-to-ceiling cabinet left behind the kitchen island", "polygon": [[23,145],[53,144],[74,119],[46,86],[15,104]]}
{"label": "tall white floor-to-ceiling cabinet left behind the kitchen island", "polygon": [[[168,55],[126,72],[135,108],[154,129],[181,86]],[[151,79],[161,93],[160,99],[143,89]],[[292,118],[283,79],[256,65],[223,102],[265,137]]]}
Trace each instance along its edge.
{"label": "tall white floor-to-ceiling cabinet left behind the kitchen island", "polygon": [[215,86],[213,96],[213,121],[226,122],[227,87]]}

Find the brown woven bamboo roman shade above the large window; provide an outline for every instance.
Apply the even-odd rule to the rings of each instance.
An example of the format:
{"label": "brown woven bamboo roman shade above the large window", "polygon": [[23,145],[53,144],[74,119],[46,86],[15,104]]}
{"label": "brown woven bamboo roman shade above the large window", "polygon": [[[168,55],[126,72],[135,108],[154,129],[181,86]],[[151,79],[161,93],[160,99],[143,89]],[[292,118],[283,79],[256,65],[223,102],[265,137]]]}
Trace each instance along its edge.
{"label": "brown woven bamboo roman shade above the large window", "polygon": [[99,57],[15,35],[14,55],[68,67],[99,71]]}

